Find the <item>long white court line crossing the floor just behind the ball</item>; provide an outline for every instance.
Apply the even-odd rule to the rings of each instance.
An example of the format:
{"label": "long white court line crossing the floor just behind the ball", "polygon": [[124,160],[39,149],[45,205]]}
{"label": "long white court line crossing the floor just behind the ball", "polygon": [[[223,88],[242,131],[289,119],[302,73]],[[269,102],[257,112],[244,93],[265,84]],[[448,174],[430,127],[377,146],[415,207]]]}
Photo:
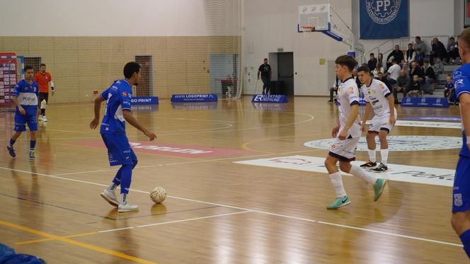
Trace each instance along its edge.
{"label": "long white court line crossing the floor just behind the ball", "polygon": [[[3,168],[3,167],[0,167],[0,168]],[[11,168],[3,168],[3,169],[13,170]],[[19,171],[19,170],[13,170],[13,171]],[[33,172],[28,172],[28,171],[21,171],[21,172],[33,173]],[[35,174],[38,174],[38,173],[35,173]],[[86,181],[86,180],[75,180],[75,179],[71,179],[71,178],[63,178],[63,177],[59,177],[59,176],[50,176],[50,175],[46,175],[46,174],[38,174],[38,175],[45,176],[45,177],[50,177],[50,178],[57,178],[57,179],[61,179],[61,180],[70,180],[70,181],[74,181],[74,182],[78,182],[78,183],[98,185],[98,186],[103,186],[103,187],[108,186],[106,184],[93,183],[93,182]],[[136,193],[149,194],[148,191],[144,191],[144,190],[130,189],[130,191],[133,191],[133,192],[136,192]],[[294,220],[299,220],[299,221],[303,221],[303,222],[316,222],[316,223],[319,223],[319,224],[328,224],[330,226],[338,226],[338,227],[343,227],[343,228],[346,228],[346,229],[353,229],[353,230],[357,230],[357,231],[365,231],[365,232],[374,233],[374,234],[384,234],[386,236],[395,236],[395,237],[401,237],[401,238],[404,238],[404,239],[413,239],[413,240],[417,240],[417,241],[438,243],[438,244],[447,245],[447,246],[462,247],[461,244],[450,243],[450,242],[446,242],[446,241],[439,241],[439,240],[434,240],[434,239],[423,239],[423,238],[420,238],[418,236],[406,236],[406,235],[395,234],[395,233],[391,233],[391,232],[383,232],[383,231],[377,231],[377,230],[374,230],[374,229],[365,229],[365,228],[360,228],[360,227],[356,227],[356,226],[348,226],[348,225],[343,225],[343,224],[335,224],[335,223],[330,223],[330,222],[317,221],[317,220],[314,220],[314,219],[308,219],[308,218],[303,218],[303,217],[294,217],[294,216],[290,216],[290,215],[287,215],[287,214],[277,214],[277,213],[273,213],[273,212],[253,210],[253,209],[249,209],[249,208],[245,208],[245,207],[237,207],[237,206],[233,206],[233,205],[223,205],[223,204],[219,204],[219,203],[216,203],[216,202],[207,202],[207,201],[195,200],[195,199],[190,199],[190,198],[185,198],[185,197],[178,197],[178,196],[172,196],[172,195],[167,195],[166,197],[171,197],[173,199],[178,199],[178,200],[186,200],[186,201],[190,201],[190,202],[200,202],[200,203],[204,203],[204,204],[207,204],[207,205],[217,205],[217,206],[220,206],[220,207],[233,208],[233,209],[238,209],[238,210],[242,210],[242,211],[257,212],[259,214],[273,215],[273,216],[277,216],[277,217],[282,217],[282,218],[287,218],[287,219],[294,219]],[[0,224],[1,224],[1,222],[0,222]]]}

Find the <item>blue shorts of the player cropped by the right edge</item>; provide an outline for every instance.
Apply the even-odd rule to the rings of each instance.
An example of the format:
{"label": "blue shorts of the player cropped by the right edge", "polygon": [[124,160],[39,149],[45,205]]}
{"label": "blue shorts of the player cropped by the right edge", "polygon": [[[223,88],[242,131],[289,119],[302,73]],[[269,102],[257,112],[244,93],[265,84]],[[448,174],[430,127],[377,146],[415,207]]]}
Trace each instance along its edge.
{"label": "blue shorts of the player cropped by the right edge", "polygon": [[457,162],[452,194],[452,212],[470,209],[470,158],[466,156],[460,156]]}

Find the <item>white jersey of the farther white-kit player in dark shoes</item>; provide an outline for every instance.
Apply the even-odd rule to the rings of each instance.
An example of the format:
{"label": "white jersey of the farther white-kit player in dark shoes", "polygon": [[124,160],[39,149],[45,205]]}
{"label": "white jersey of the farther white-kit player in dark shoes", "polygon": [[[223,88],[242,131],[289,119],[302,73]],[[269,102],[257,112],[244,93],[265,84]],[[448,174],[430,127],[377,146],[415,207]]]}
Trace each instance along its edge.
{"label": "white jersey of the farther white-kit player in dark shoes", "polygon": [[[391,92],[382,81],[372,79],[370,86],[362,86],[362,89],[364,91],[364,101],[372,105],[376,116],[390,115],[390,105],[386,96],[390,96]],[[394,113],[396,115],[396,109]]]}

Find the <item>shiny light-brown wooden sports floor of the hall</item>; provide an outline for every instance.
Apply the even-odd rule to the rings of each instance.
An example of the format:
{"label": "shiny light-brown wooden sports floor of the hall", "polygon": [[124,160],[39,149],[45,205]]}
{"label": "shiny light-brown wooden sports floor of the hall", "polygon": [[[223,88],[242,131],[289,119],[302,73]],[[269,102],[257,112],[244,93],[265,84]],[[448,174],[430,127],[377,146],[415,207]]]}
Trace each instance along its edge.
{"label": "shiny light-brown wooden sports floor of the hall", "polygon": [[[157,109],[134,110],[158,139],[127,127],[140,147],[129,195],[139,211],[121,214],[99,195],[117,168],[88,127],[93,104],[52,101],[35,161],[28,134],[15,145],[16,159],[1,147],[0,242],[47,263],[467,263],[449,222],[452,187],[391,175],[374,202],[372,187],[344,176],[352,203],[326,210],[335,198],[327,173],[234,163],[323,159],[327,149],[304,143],[330,137],[337,113],[326,101],[161,100]],[[397,110],[399,118],[459,115],[456,106]],[[4,146],[12,125],[13,113],[0,113]],[[391,135],[460,137],[460,130],[396,126]],[[389,163],[454,170],[458,152],[391,151]],[[299,165],[288,163],[279,162]],[[155,186],[168,193],[159,205],[149,199]]]}

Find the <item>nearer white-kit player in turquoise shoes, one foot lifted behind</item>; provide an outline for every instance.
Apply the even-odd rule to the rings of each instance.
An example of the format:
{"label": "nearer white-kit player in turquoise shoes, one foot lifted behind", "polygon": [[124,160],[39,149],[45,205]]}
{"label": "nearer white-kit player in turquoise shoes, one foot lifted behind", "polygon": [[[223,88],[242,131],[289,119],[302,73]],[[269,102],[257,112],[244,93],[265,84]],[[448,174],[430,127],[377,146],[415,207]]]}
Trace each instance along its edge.
{"label": "nearer white-kit player in turquoise shoes, one foot lifted behind", "polygon": [[352,78],[352,69],[357,66],[354,57],[343,55],[336,59],[336,75],[342,80],[338,88],[338,113],[339,123],[333,128],[331,135],[336,137],[330,152],[325,159],[325,166],[331,178],[331,183],[336,191],[336,199],[328,205],[327,209],[338,209],[350,204],[343,187],[343,179],[336,164],[340,162],[340,170],[359,177],[374,186],[374,201],[379,199],[384,190],[386,180],[374,178],[358,166],[351,165],[355,160],[357,142],[361,136],[359,117],[359,91]]}

